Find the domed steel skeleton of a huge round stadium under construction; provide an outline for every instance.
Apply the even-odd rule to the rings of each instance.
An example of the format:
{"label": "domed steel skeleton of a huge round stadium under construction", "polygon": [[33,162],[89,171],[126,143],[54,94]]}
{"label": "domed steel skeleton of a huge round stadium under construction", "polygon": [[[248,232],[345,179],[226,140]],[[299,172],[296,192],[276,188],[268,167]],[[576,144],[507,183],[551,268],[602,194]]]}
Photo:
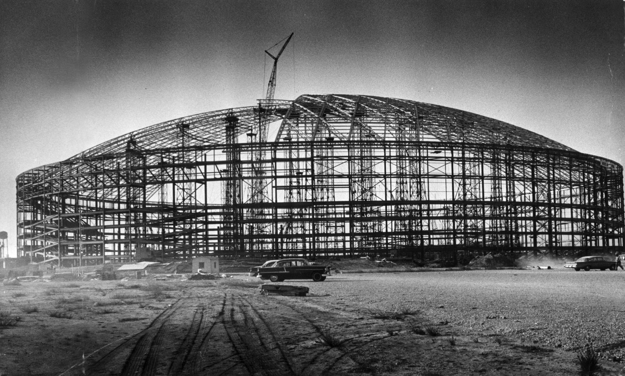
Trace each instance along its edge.
{"label": "domed steel skeleton of a huge round stadium under construction", "polygon": [[[277,128],[274,142],[246,139],[260,122]],[[19,256],[59,264],[129,259],[139,246],[179,259],[425,258],[614,253],[624,241],[614,161],[474,113],[365,95],[179,118],[16,181]]]}

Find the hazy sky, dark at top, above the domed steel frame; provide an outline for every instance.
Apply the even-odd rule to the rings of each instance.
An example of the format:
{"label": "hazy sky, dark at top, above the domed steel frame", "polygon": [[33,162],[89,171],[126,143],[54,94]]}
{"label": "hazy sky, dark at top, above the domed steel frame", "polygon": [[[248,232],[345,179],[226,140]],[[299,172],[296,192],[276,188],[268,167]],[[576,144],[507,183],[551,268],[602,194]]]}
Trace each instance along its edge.
{"label": "hazy sky, dark at top, above the domed steel frame", "polygon": [[[276,99],[368,94],[497,118],[624,163],[622,0],[0,0],[0,231],[15,178],[109,138]],[[265,66],[265,64],[267,66]]]}

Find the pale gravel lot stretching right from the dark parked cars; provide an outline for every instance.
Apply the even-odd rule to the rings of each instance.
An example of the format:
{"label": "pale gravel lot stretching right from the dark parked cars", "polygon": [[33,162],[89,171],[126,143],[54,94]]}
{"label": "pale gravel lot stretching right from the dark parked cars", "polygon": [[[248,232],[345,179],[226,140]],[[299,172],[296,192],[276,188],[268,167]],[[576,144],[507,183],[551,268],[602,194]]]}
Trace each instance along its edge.
{"label": "pale gravel lot stretching right from the dark parked cars", "polygon": [[605,357],[622,357],[624,281],[625,272],[556,268],[338,274],[307,286],[353,304],[413,306],[432,322],[565,350],[580,349],[588,337]]}

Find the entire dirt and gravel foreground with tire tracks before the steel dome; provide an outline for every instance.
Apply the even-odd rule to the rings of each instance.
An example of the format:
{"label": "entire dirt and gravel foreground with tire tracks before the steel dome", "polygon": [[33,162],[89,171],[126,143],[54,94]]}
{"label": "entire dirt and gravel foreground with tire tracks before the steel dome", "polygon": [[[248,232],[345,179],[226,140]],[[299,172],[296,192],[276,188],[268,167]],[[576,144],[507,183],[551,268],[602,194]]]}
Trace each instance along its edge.
{"label": "entire dirt and gravel foreground with tire tracks before the steel dome", "polygon": [[262,296],[243,273],[22,282],[0,294],[0,375],[574,375],[585,345],[600,374],[619,375],[623,279],[560,268],[281,282],[306,297]]}

